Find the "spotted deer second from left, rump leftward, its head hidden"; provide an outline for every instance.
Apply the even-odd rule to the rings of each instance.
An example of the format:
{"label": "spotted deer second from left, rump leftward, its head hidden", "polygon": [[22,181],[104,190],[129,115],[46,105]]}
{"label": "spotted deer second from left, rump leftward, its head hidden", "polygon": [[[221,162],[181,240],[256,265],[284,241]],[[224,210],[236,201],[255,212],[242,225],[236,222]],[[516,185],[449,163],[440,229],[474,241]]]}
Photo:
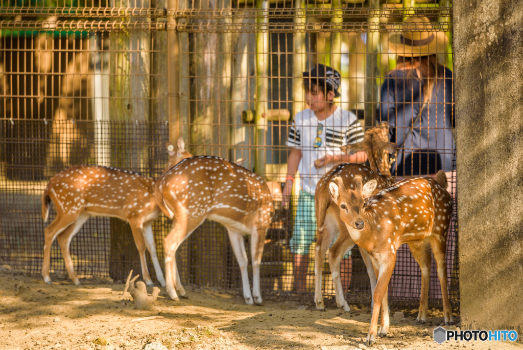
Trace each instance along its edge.
{"label": "spotted deer second from left, rump leftward, its head hidden", "polygon": [[[186,297],[176,266],[176,250],[208,218],[223,224],[229,232],[240,265],[245,302],[260,304],[259,267],[265,234],[274,213],[265,181],[228,160],[200,156],[184,159],[163,174],[156,182],[154,194],[162,211],[173,219],[173,228],[164,239],[169,296],[179,300],[178,291],[181,297]],[[251,235],[252,294],[244,235]]]}

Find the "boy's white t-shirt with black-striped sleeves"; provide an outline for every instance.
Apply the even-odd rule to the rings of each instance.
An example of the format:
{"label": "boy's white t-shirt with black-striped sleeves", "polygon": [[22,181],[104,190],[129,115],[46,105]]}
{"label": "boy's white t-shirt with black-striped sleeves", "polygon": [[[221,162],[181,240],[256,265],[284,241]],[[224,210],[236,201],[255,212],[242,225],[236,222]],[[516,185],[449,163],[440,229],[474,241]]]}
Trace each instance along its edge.
{"label": "boy's white t-shirt with black-striped sleeves", "polygon": [[[304,110],[294,116],[289,128],[287,146],[301,150],[301,160],[298,165],[301,188],[314,195],[320,178],[334,166],[327,163],[325,167],[316,169],[314,161],[329,155],[342,155],[340,146],[354,144],[363,140],[363,128],[354,113],[336,107],[333,114],[319,121],[314,112]],[[319,137],[321,144],[319,143]],[[316,143],[318,147],[314,147]]]}

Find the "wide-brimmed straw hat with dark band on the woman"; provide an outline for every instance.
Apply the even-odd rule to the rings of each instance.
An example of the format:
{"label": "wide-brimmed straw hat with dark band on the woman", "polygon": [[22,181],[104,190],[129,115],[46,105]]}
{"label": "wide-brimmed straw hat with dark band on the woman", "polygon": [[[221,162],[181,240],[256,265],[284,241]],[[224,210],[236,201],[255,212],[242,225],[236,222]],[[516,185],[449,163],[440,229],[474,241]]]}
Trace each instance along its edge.
{"label": "wide-brimmed straw hat with dark band on the woman", "polygon": [[401,26],[402,32],[389,37],[389,51],[403,57],[444,53],[448,39],[443,31],[435,31],[427,17],[410,17]]}

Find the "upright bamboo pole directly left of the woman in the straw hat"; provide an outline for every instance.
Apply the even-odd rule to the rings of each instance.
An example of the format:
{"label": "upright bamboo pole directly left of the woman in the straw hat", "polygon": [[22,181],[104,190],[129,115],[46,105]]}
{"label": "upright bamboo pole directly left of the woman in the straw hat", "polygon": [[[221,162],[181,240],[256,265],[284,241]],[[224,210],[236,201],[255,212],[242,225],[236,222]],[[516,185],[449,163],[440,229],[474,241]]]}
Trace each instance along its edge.
{"label": "upright bamboo pole directly left of the woman in the straw hat", "polygon": [[[380,6],[379,0],[369,0],[370,8],[378,8]],[[378,47],[380,34],[377,31],[371,31],[378,27],[380,18],[369,17],[370,24],[369,31],[367,31],[366,42],[366,58],[365,58],[365,126],[372,127],[376,120],[376,104],[379,101],[379,86],[376,78],[379,75],[378,55],[376,49]]]}

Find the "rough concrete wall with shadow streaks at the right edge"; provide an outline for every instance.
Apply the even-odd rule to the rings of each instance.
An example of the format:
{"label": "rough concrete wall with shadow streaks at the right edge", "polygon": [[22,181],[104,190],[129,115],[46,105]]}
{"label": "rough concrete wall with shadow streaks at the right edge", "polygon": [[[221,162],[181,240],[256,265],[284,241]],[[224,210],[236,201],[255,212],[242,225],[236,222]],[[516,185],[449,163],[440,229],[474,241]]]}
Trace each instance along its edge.
{"label": "rough concrete wall with shadow streaks at the right edge", "polygon": [[523,337],[523,3],[455,0],[461,322]]}

